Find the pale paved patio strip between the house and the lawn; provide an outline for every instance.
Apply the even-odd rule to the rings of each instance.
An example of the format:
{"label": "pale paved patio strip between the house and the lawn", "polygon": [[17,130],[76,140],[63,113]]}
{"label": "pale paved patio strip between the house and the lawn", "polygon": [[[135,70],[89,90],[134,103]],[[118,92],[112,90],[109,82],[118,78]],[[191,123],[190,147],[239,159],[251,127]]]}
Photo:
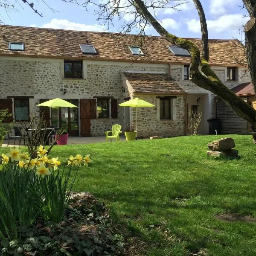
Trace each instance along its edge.
{"label": "pale paved patio strip between the house and the lawn", "polygon": [[[106,137],[105,136],[99,136],[99,137],[69,137],[67,144],[68,145],[78,145],[78,144],[92,144],[92,143],[99,143],[99,142],[105,142]],[[120,137],[121,141],[126,141],[125,137]],[[109,143],[111,143],[110,140],[108,140]],[[116,140],[113,140],[115,142]],[[3,141],[2,147],[7,147],[8,140]],[[14,140],[10,140],[9,147],[13,147]],[[16,140],[15,146],[19,146],[19,141]],[[20,146],[24,146],[23,140],[21,140]]]}

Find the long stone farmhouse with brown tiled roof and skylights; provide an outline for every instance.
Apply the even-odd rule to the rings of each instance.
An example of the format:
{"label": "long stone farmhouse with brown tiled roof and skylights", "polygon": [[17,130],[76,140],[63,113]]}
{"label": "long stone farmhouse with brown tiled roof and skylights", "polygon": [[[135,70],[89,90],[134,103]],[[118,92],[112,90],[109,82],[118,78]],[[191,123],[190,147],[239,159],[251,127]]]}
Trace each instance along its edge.
{"label": "long stone farmhouse with brown tiled roof and skylights", "polygon": [[[189,110],[202,112],[199,133],[208,134],[215,95],[189,81],[190,55],[157,36],[140,45],[135,35],[0,26],[0,109],[9,121],[28,121],[36,105],[66,99],[79,108],[45,108],[51,125],[73,136],[102,136],[113,124],[134,122],[134,108],[118,104],[141,98],[156,107],[138,109],[139,137],[188,133]],[[190,38],[201,49],[201,39]],[[209,40],[209,63],[231,88],[250,82],[237,58],[237,40]],[[236,58],[234,58],[234,56]]]}

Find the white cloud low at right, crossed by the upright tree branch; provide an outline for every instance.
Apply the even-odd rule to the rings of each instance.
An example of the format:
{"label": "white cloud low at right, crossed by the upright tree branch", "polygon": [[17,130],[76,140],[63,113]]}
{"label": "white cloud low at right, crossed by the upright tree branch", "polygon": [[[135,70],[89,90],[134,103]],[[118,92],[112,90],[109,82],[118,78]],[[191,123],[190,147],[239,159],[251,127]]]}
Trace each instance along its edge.
{"label": "white cloud low at right, crossed by the upright tree branch", "polygon": [[[249,17],[244,17],[241,14],[229,14],[223,15],[216,20],[207,20],[207,28],[209,32],[222,33],[227,32],[227,35],[231,33],[238,33],[241,26],[243,26]],[[188,30],[200,33],[200,21],[192,19],[186,22]]]}

